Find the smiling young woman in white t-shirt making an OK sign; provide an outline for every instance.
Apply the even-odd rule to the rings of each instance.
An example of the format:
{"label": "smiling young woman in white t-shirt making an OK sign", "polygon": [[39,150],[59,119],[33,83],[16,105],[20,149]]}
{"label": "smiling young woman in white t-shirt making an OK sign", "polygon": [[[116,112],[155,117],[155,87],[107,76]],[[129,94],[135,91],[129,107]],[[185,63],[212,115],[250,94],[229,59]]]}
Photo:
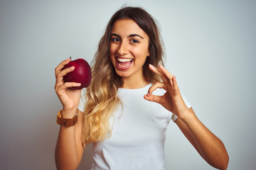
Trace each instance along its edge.
{"label": "smiling young woman in white t-shirt making an OK sign", "polygon": [[[87,89],[70,91],[55,68],[55,91],[63,104],[55,149],[58,169],[76,169],[92,143],[92,169],[164,169],[166,128],[172,119],[211,166],[227,169],[228,153],[196,117],[174,77],[162,65],[163,50],[154,19],[142,8],[122,8],[100,40]],[[63,69],[63,70],[62,70]],[[82,94],[82,95],[81,95]],[[75,116],[75,115],[78,116]]]}

